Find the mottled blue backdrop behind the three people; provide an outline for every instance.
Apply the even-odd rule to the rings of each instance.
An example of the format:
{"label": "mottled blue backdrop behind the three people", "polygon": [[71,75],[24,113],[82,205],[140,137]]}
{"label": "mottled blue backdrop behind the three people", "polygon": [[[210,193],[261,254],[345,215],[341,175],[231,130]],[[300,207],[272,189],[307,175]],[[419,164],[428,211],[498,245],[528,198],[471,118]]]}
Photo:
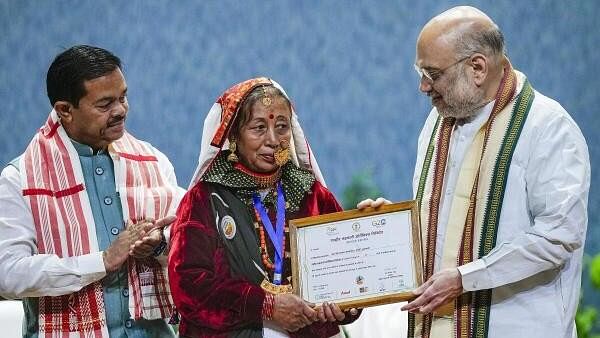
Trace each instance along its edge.
{"label": "mottled blue backdrop behind the three people", "polygon": [[[600,2],[467,1],[504,31],[513,65],[597,132]],[[128,129],[153,143],[187,186],[215,98],[249,77],[288,91],[333,192],[366,168],[392,200],[411,197],[417,135],[430,109],[413,71],[421,26],[455,1],[0,0],[0,163],[26,147],[50,110],[45,75],[73,44],[113,51],[129,85]],[[600,251],[592,171],[586,250]]]}

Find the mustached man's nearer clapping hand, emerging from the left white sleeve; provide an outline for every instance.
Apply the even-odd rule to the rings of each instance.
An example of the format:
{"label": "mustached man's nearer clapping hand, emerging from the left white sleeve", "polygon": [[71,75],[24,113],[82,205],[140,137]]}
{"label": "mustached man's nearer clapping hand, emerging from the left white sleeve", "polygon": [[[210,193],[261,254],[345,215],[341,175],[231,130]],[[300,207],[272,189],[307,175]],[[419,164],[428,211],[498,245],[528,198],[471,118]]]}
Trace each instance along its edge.
{"label": "mustached man's nearer clapping hand, emerging from the left white sleeve", "polygon": [[152,228],[151,222],[139,222],[128,225],[117,239],[102,253],[104,268],[107,272],[119,270],[129,257],[129,250],[133,243],[143,238]]}

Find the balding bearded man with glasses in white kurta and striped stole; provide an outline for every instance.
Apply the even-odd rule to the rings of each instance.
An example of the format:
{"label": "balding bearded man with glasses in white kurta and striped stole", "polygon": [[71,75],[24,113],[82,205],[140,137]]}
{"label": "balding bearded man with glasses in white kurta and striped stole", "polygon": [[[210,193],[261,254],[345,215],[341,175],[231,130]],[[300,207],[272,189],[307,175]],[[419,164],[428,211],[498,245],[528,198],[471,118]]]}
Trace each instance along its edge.
{"label": "balding bearded man with glasses in white kurta and striped stole", "polygon": [[580,129],[512,68],[478,9],[431,19],[416,51],[434,108],[413,180],[426,282],[402,307],[409,337],[575,337],[590,185]]}

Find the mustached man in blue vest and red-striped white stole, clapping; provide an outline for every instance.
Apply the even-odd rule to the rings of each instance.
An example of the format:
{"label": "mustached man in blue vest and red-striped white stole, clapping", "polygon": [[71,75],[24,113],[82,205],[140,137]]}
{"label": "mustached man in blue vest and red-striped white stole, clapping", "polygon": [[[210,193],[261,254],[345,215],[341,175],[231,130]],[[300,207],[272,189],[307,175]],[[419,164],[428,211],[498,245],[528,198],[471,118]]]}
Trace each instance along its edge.
{"label": "mustached man in blue vest and red-striped white stole, clapping", "polygon": [[125,131],[119,58],[74,46],[47,87],[50,116],[0,176],[0,295],[23,299],[25,337],[173,336],[165,227],[183,190]]}

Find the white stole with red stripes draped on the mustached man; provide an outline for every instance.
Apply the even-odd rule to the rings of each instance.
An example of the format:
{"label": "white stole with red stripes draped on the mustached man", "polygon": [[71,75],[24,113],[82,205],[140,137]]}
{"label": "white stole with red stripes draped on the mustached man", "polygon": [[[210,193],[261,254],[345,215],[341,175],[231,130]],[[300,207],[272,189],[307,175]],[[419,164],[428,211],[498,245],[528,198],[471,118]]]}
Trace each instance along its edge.
{"label": "white stole with red stripes draped on the mustached man", "polygon": [[[175,213],[176,187],[163,176],[148,145],[125,133],[108,150],[124,224]],[[27,147],[20,167],[39,253],[62,258],[99,251],[79,155],[54,110]],[[173,300],[166,267],[154,258],[130,258],[127,264],[132,317],[168,318]],[[100,282],[73,294],[40,297],[39,331],[46,337],[108,337]]]}

